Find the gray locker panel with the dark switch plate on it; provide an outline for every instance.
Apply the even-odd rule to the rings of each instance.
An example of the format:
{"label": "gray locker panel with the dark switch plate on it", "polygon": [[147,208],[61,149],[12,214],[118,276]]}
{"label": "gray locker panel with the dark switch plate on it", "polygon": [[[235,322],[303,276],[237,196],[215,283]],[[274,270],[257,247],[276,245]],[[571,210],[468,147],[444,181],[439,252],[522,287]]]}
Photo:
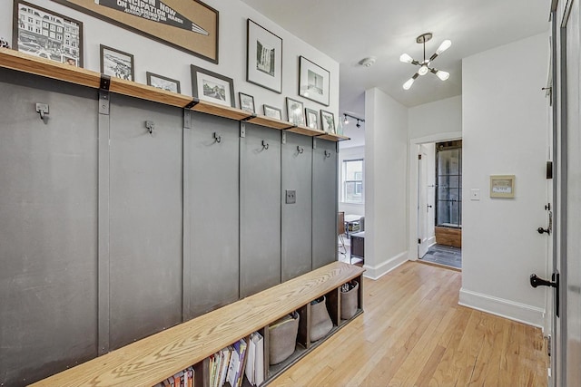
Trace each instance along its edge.
{"label": "gray locker panel with the dark switch plate on it", "polygon": [[281,148],[282,281],[308,273],[312,266],[312,139],[283,132]]}

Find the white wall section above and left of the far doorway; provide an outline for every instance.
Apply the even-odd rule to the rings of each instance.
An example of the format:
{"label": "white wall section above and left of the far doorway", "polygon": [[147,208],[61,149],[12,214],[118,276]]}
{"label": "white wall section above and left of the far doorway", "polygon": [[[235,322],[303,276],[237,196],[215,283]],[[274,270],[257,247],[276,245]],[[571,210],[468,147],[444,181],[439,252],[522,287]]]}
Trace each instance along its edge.
{"label": "white wall section above and left of the far doorway", "polygon": [[[462,138],[462,96],[409,108],[409,259],[418,258],[418,151],[420,144],[431,145],[429,184],[435,184],[434,142]],[[428,202],[434,206],[435,190],[428,189]],[[434,236],[435,207],[428,214],[428,235]]]}

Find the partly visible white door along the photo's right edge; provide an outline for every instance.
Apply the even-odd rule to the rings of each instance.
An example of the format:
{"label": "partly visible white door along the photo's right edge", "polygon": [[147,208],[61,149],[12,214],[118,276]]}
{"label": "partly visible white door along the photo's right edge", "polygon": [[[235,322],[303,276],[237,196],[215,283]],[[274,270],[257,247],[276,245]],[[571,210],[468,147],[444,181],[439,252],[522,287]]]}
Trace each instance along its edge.
{"label": "partly visible white door along the photo's right edge", "polygon": [[[554,196],[554,298],[551,369],[554,386],[581,386],[581,77],[579,2],[560,1],[553,10],[553,110],[556,147]],[[559,275],[560,274],[560,275]],[[531,281],[532,283],[532,281]]]}

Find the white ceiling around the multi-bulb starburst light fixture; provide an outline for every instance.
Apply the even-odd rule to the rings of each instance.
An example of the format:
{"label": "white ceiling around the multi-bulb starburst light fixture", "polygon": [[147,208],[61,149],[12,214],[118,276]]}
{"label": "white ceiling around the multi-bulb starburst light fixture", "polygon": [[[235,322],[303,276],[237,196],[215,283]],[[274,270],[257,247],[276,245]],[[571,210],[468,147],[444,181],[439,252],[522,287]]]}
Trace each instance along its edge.
{"label": "white ceiling around the multi-bulb starburst light fixture", "polygon": [[[365,112],[362,94],[373,87],[409,107],[459,95],[462,58],[547,32],[549,27],[550,0],[242,1],[338,61],[340,114],[350,111],[359,117]],[[428,73],[404,91],[401,85],[417,67],[400,63],[399,55],[423,59],[416,37],[427,32],[434,34],[426,44],[427,56],[443,40],[452,41],[432,63],[450,73],[450,78],[442,82]],[[375,65],[359,64],[371,55],[377,57]],[[490,76],[507,74],[491,69]]]}

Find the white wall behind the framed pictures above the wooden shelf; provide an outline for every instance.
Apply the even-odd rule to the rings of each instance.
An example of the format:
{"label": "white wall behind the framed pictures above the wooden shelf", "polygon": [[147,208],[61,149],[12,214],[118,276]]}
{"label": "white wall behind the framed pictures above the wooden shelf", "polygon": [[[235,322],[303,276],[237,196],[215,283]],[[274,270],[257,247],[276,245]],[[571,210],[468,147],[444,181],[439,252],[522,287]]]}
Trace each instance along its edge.
{"label": "white wall behind the framed pictures above the wooden shelf", "polygon": [[[146,72],[158,73],[180,81],[182,94],[192,95],[190,64],[195,64],[233,79],[237,107],[239,106],[238,92],[244,92],[254,96],[256,112],[260,114],[263,112],[262,104],[266,103],[281,108],[282,117],[285,119],[285,97],[287,96],[302,101],[305,108],[331,111],[336,114],[336,117],[339,113],[339,63],[283,30],[239,0],[204,0],[205,4],[220,12],[219,64],[204,61],[189,53],[183,53],[49,0],[29,0],[29,3],[84,23],[84,68],[88,70],[100,72],[99,44],[104,44],[126,53],[133,53],[136,82],[146,83]],[[3,5],[0,12],[0,36],[8,38],[12,45],[13,2],[5,0]],[[246,82],[248,18],[282,38],[282,94]],[[330,106],[326,107],[298,96],[300,55],[330,71]]]}

